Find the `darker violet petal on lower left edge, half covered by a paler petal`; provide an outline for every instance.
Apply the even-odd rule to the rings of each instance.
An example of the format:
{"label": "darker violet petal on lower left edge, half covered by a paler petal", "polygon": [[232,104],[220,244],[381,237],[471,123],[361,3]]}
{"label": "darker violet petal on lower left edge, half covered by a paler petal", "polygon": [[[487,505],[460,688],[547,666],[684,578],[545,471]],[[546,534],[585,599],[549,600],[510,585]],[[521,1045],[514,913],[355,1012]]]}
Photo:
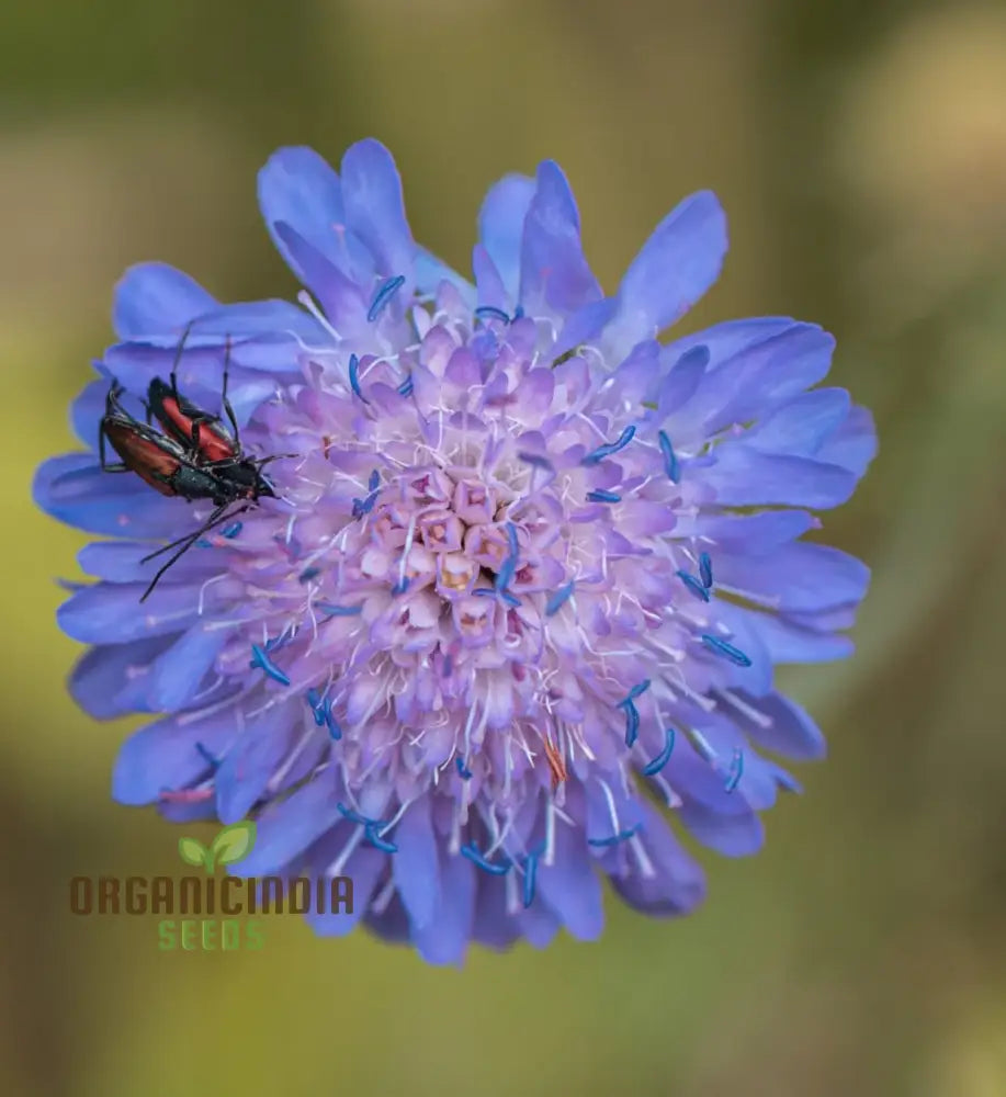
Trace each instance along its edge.
{"label": "darker violet petal on lower left edge, half covered by a paler petal", "polygon": [[147,697],[149,665],[174,642],[173,635],[92,647],[74,667],[70,695],[95,720],[127,712],[154,712]]}

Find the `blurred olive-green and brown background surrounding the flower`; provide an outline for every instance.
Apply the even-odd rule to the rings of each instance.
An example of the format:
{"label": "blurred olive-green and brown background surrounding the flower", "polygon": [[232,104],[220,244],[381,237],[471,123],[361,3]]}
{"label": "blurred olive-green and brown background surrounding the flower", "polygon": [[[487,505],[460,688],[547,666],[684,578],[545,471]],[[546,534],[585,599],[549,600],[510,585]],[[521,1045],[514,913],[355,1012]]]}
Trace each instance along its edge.
{"label": "blurred olive-green and brown background surrounding the flower", "polygon": [[[7,0],[0,127],[0,1093],[1006,1094],[1001,4]],[[609,291],[713,188],[732,252],[685,329],[818,321],[874,409],[880,456],[825,522],[874,569],[857,655],[784,675],[830,757],[759,857],[702,855],[687,920],[609,898],[599,943],[459,971],[295,918],[224,955],[69,913],[75,874],[178,872],[180,828],[111,802],[135,723],[66,694],[54,579],[86,539],[36,512],[33,470],[75,448],[122,270],[292,296],[255,172],[368,135],[465,271],[485,189],[545,157]]]}

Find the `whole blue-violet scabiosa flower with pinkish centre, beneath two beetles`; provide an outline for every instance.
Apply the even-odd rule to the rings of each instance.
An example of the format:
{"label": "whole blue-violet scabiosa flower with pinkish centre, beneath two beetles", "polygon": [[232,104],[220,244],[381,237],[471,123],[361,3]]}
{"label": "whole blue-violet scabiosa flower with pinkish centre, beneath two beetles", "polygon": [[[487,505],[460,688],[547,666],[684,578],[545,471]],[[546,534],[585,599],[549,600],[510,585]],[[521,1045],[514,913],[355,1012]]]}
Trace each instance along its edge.
{"label": "whole blue-violet scabiosa flower with pinkish centre, beneath two beetles", "polygon": [[[258,818],[245,874],[343,875],[354,913],[429,961],[470,940],[591,939],[601,879],[651,915],[703,875],[669,824],[728,856],[795,782],[762,749],[823,754],[772,687],[843,657],[867,569],[801,541],[873,455],[870,416],[814,388],[833,339],[785,318],[657,337],[716,279],[723,213],[696,194],[613,296],[584,258],[555,163],[507,177],[479,215],[468,284],[412,241],[373,140],[337,174],[305,148],[259,178],[301,307],[222,305],[171,268],[118,286],[121,341],[74,406],[89,452],[35,495],[110,535],[59,611],[94,645],[74,671],[97,717],[158,713],[114,795],[169,818]],[[151,541],[208,504],[95,456],[114,377],[139,399],[178,362],[275,498],[207,533],[143,604]]]}

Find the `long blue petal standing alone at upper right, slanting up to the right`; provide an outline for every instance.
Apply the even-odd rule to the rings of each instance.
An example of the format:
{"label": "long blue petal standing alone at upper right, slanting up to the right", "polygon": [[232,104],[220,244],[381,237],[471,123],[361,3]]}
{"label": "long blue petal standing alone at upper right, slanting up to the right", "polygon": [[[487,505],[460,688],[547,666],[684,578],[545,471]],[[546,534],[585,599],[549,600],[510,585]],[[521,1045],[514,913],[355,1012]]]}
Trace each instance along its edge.
{"label": "long blue petal standing alone at upper right, slanting up to the right", "polygon": [[687,197],[660,222],[625,272],[606,344],[624,353],[680,319],[720,276],[726,248],[726,216],[715,194],[700,191]]}

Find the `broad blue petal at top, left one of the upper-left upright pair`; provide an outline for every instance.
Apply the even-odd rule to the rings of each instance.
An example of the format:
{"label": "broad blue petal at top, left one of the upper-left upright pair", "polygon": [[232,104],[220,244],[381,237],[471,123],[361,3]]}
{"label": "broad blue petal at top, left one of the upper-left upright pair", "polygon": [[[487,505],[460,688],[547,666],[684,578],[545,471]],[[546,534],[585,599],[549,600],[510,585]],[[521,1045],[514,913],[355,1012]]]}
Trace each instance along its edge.
{"label": "broad blue petal at top, left one of the upper-left upright pair", "polygon": [[342,186],[331,166],[314,149],[281,148],[259,172],[259,208],[280,255],[305,284],[307,272],[276,231],[287,224],[355,282],[370,281],[373,262],[346,224]]}

